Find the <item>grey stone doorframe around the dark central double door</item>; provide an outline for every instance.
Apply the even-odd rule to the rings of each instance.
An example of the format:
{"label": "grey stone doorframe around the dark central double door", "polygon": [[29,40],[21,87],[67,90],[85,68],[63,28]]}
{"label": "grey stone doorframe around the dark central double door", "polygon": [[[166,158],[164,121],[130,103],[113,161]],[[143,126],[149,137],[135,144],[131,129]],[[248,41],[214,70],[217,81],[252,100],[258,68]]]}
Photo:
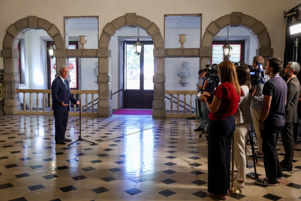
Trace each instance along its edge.
{"label": "grey stone doorframe around the dark central double door", "polygon": [[[151,36],[139,36],[140,41],[152,40]],[[124,89],[123,83],[123,42],[124,41],[137,41],[137,36],[118,36],[118,82],[117,90]],[[153,41],[154,42],[154,41]],[[117,94],[117,109],[123,108],[123,92]]]}

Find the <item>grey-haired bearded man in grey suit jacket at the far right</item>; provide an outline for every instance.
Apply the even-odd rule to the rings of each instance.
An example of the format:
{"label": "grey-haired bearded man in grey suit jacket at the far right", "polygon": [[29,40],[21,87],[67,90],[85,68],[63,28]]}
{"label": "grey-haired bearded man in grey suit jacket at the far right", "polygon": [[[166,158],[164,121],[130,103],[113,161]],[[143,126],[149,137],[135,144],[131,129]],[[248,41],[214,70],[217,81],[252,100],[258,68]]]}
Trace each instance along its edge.
{"label": "grey-haired bearded man in grey suit jacket at the far right", "polygon": [[300,82],[296,77],[300,71],[300,65],[297,62],[288,62],[283,69],[283,75],[287,77],[287,96],[285,105],[285,125],[281,130],[281,139],[285,151],[284,159],[280,162],[281,171],[292,171],[292,162],[294,157],[294,123],[298,122],[298,98],[300,95]]}

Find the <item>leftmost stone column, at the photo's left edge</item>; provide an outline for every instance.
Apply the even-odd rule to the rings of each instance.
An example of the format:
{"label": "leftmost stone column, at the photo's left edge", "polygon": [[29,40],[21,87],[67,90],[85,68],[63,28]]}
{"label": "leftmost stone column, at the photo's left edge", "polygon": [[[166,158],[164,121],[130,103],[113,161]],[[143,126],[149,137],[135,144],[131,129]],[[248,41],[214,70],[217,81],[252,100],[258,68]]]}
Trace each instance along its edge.
{"label": "leftmost stone column, at the photo's left edge", "polygon": [[2,49],[1,57],[4,61],[4,84],[5,84],[5,98],[3,111],[5,115],[15,115],[20,107],[19,89],[20,75],[18,69],[19,51],[17,49]]}

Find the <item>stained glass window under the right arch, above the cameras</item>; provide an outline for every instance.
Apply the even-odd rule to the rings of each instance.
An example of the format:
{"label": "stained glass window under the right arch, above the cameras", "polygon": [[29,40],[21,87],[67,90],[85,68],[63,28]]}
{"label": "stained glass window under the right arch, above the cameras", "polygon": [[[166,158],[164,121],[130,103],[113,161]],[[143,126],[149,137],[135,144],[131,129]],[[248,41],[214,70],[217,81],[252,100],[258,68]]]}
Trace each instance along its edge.
{"label": "stained glass window under the right arch, above the cameras", "polygon": [[[211,59],[211,64],[219,64],[222,61],[225,60],[224,58],[224,50],[223,47],[225,46],[222,44],[222,41],[218,41],[218,43],[212,44],[212,59]],[[233,62],[239,62],[243,60],[243,55],[242,55],[242,44],[230,44],[230,46],[233,48],[231,51],[231,55],[229,60]]]}

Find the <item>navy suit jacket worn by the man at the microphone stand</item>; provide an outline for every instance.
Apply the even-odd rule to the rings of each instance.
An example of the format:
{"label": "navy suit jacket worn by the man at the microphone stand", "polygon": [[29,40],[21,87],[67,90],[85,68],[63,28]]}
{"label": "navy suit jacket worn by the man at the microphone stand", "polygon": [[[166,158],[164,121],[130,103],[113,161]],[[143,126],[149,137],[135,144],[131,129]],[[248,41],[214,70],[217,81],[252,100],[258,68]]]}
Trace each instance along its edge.
{"label": "navy suit jacket worn by the man at the microphone stand", "polygon": [[69,82],[66,81],[67,88],[65,83],[61,79],[60,76],[55,78],[51,84],[51,96],[52,96],[52,110],[56,112],[65,112],[70,111],[69,105],[63,106],[61,102],[64,101],[64,104],[69,104],[69,100],[76,104],[77,100],[71,96],[70,89],[69,89]]}

